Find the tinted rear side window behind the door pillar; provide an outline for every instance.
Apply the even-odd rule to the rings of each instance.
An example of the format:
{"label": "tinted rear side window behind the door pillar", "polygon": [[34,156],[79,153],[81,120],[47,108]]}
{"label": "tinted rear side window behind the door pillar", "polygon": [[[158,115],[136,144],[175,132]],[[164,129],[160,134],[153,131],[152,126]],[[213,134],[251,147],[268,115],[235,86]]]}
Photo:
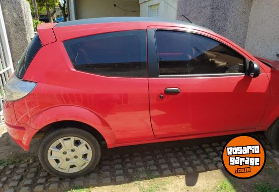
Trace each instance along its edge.
{"label": "tinted rear side window behind the door pillar", "polygon": [[146,31],[122,31],[64,41],[75,70],[111,77],[146,77]]}

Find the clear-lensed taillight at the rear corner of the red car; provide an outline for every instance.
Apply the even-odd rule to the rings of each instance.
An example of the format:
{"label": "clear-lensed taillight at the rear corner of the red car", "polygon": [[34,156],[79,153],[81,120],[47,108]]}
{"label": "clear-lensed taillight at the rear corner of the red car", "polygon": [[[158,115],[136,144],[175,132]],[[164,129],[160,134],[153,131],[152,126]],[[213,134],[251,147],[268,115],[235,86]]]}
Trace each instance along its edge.
{"label": "clear-lensed taillight at the rear corner of the red car", "polygon": [[8,101],[16,101],[28,95],[37,83],[24,81],[17,76],[12,76],[6,84],[5,96]]}

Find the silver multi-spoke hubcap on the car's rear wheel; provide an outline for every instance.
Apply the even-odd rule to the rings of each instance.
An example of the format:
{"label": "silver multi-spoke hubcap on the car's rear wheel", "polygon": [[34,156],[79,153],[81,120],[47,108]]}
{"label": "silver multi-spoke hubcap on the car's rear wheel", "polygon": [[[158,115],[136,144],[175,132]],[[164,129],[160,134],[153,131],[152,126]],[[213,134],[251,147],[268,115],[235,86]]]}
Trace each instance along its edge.
{"label": "silver multi-spoke hubcap on the car's rear wheel", "polygon": [[92,158],[89,144],[78,137],[63,137],[48,149],[48,161],[58,171],[74,173],[84,169]]}

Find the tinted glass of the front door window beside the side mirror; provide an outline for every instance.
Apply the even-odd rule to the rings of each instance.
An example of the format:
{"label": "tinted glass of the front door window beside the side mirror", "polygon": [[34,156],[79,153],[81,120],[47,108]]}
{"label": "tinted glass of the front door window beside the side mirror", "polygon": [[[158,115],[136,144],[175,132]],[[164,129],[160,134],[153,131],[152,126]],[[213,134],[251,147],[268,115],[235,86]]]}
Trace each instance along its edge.
{"label": "tinted glass of the front door window beside the side mirror", "polygon": [[156,31],[160,75],[244,73],[244,57],[213,39],[186,32]]}

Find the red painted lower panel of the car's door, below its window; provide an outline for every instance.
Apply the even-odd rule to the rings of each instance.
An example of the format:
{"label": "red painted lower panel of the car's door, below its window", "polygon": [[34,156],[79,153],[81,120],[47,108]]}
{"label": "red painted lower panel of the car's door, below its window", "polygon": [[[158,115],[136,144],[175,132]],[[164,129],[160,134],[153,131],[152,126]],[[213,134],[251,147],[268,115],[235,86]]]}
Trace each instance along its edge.
{"label": "red painted lower panel of the car's door, below its window", "polygon": [[[163,93],[178,87],[178,95]],[[268,99],[266,74],[149,79],[150,112],[156,137],[256,129]],[[159,95],[164,95],[163,99]]]}

